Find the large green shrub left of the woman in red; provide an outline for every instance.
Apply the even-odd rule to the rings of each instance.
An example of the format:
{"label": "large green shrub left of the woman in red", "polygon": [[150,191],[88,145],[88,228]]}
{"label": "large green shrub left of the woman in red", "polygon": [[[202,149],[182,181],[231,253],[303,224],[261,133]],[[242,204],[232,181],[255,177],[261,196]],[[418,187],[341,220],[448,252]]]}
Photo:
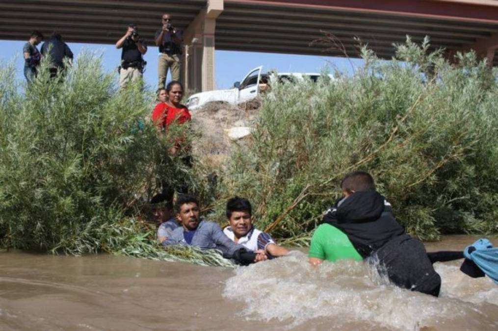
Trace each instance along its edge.
{"label": "large green shrub left of the woman in red", "polygon": [[13,67],[1,67],[1,246],[96,252],[158,179],[173,187],[189,181],[166,152],[184,128],[157,134],[146,119],[153,93],[140,84],[118,92],[99,57],[81,54],[56,80],[42,63],[24,93]]}

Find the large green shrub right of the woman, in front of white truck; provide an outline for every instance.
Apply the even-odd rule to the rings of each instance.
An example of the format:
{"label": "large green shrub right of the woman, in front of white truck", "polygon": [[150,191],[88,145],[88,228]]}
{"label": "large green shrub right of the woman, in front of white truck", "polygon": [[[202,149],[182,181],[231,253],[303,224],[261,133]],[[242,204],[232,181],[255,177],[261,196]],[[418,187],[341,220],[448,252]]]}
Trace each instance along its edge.
{"label": "large green shrub right of the woman, in front of white truck", "polygon": [[411,234],[496,232],[497,69],[427,49],[408,39],[387,62],[363,47],[352,77],[272,86],[252,143],[218,170],[211,217],[225,221],[226,198],[248,197],[258,227],[302,242],[344,175],[362,169]]}

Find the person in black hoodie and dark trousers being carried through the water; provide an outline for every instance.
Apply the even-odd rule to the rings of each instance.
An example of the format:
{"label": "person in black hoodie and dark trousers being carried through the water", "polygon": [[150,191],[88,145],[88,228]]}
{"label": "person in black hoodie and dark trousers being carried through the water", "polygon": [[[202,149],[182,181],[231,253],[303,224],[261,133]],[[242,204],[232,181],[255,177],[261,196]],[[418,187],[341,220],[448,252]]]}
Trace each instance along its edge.
{"label": "person in black hoodie and dark trousers being carried through the water", "polygon": [[341,189],[344,197],[323,221],[346,233],[360,255],[373,261],[395,285],[439,296],[441,277],[424,244],[398,224],[391,205],[375,190],[372,176],[364,171],[349,173]]}

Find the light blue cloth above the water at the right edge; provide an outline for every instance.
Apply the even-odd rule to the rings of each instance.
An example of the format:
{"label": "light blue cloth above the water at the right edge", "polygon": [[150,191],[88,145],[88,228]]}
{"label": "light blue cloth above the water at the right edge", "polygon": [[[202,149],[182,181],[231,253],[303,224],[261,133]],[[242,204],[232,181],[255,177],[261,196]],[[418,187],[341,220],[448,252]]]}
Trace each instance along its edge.
{"label": "light blue cloth above the water at the right edge", "polygon": [[465,247],[464,255],[474,261],[484,273],[498,284],[498,247],[488,239],[479,239]]}

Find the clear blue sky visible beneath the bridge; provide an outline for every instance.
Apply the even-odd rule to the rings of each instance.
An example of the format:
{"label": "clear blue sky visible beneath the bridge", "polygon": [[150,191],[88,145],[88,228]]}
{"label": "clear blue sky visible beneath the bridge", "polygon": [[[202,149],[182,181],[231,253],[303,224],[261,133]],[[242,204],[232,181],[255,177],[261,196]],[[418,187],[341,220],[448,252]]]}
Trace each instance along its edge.
{"label": "clear blue sky visible beneath the bridge", "polygon": [[[22,58],[22,46],[26,41],[0,40],[0,62],[15,61],[17,68],[17,78],[24,79],[22,68],[24,60]],[[102,54],[104,67],[106,70],[116,70],[121,58],[121,50],[114,45],[80,44],[68,43],[75,54],[83,50],[97,51]],[[38,49],[40,49],[38,45]],[[144,79],[147,85],[157,86],[157,47],[148,47],[144,58],[147,61],[147,68]],[[352,72],[350,62],[343,58],[327,56],[309,55],[288,55],[253,52],[235,52],[217,50],[215,63],[215,84],[217,89],[231,87],[234,82],[241,81],[244,76],[254,67],[263,66],[263,71],[274,69],[280,72],[320,72],[324,67],[329,66],[331,71]],[[353,65],[361,65],[361,60],[352,60]],[[169,80],[168,72],[168,80]],[[116,76],[118,80],[118,76]]]}

